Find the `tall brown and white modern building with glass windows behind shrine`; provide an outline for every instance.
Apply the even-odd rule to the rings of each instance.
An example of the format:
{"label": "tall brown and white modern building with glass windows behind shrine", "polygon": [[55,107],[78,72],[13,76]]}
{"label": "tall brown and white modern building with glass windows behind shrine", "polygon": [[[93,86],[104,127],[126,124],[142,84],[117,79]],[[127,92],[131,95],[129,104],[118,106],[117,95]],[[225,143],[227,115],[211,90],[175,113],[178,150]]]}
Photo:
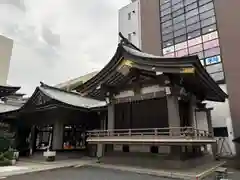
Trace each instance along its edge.
{"label": "tall brown and white modern building with glass windows behind shrine", "polygon": [[119,31],[143,51],[198,55],[229,94],[224,104],[208,103],[216,133],[227,130],[229,142],[240,136],[239,6],[239,0],[135,0],[119,10]]}

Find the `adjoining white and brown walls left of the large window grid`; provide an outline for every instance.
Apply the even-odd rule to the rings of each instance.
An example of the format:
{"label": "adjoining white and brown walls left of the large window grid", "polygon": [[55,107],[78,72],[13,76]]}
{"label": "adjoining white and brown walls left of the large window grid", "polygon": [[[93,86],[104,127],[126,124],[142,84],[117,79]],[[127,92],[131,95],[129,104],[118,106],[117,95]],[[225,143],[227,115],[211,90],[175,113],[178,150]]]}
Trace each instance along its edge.
{"label": "adjoining white and brown walls left of the large window grid", "polygon": [[119,10],[119,32],[126,38],[135,32],[131,42],[142,51],[161,55],[160,31],[159,0],[135,0]]}

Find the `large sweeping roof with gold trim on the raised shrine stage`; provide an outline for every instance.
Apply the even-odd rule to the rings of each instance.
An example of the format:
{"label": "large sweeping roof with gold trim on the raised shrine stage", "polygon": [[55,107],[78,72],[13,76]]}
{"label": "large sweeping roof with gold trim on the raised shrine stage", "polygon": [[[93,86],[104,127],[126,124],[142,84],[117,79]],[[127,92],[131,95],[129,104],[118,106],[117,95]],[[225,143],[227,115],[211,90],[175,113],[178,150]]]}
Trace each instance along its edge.
{"label": "large sweeping roof with gold trim on the raised shrine stage", "polygon": [[[109,87],[119,86],[131,79],[131,75],[124,76],[118,68],[124,61],[129,61],[131,68],[148,72],[162,72],[170,77],[173,83],[184,87],[199,100],[224,102],[227,94],[211,78],[201,65],[198,56],[166,58],[141,52],[125,38],[110,62],[93,78],[76,89],[85,96],[104,99],[105,94],[98,88],[101,85]],[[192,69],[192,73],[183,73]]]}

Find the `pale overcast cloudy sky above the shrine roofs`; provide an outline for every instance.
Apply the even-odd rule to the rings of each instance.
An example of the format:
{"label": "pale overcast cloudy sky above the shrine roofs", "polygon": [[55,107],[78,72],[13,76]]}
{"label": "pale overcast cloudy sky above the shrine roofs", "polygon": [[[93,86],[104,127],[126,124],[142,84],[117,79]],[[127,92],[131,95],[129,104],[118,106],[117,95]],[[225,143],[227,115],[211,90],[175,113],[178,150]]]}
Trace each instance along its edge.
{"label": "pale overcast cloudy sky above the shrine roofs", "polygon": [[100,70],[118,43],[118,9],[129,0],[0,0],[0,34],[14,40],[8,84],[30,96]]}

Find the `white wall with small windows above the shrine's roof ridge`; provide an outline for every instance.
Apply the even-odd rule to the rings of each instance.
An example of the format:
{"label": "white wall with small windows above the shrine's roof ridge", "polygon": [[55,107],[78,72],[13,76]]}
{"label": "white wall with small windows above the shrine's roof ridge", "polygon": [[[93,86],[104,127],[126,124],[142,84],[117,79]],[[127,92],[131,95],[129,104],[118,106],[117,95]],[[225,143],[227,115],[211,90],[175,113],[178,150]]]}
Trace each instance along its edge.
{"label": "white wall with small windows above the shrine's roof ridge", "polygon": [[[129,19],[129,13],[131,18]],[[140,31],[140,2],[137,0],[119,10],[119,32],[128,38],[131,34],[131,42],[141,48],[141,31]]]}

